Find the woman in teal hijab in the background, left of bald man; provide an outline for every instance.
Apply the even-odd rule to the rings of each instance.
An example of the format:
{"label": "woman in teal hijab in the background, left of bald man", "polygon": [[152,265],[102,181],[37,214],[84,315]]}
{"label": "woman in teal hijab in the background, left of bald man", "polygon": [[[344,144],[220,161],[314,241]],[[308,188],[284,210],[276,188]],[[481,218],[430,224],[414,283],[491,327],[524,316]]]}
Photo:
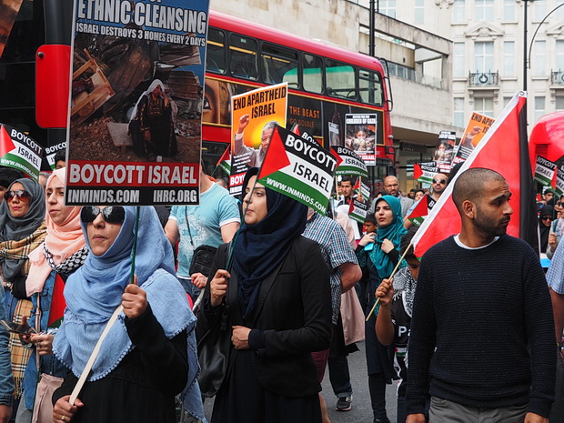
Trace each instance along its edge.
{"label": "woman in teal hijab in the background, left of bald man", "polygon": [[[390,276],[399,259],[401,237],[407,233],[401,217],[401,203],[395,196],[380,196],[374,207],[378,224],[374,248],[368,257],[358,257],[366,261],[368,267],[368,306],[372,309],[376,301],[375,293],[382,279]],[[360,254],[367,254],[362,251]],[[364,258],[364,260],[363,260]],[[378,308],[365,325],[365,341],[368,367],[368,388],[374,421],[389,423],[386,415],[386,384],[391,383],[393,374],[393,349],[378,342],[375,324]]]}

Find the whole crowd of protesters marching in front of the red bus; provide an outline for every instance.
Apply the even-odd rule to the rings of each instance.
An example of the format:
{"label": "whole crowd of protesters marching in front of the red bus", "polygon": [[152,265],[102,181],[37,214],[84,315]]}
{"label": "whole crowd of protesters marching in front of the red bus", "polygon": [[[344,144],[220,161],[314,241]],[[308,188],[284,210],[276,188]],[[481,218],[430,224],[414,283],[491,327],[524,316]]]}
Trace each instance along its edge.
{"label": "whole crowd of protesters marching in front of the red bus", "polygon": [[0,168],[0,319],[15,323],[0,327],[0,423],[173,423],[177,408],[205,421],[210,396],[212,422],[327,423],[330,403],[353,408],[347,355],[362,340],[374,422],[392,407],[398,423],[560,421],[564,197],[539,201],[545,277],[506,234],[509,186],[488,169],[458,175],[460,233],[421,259],[408,217],[453,175],[407,195],[387,176],[371,198],[345,176],[325,217],[262,186],[257,168],[237,201],[201,166],[199,206],[136,217],[65,206],[64,166],[45,186]]}

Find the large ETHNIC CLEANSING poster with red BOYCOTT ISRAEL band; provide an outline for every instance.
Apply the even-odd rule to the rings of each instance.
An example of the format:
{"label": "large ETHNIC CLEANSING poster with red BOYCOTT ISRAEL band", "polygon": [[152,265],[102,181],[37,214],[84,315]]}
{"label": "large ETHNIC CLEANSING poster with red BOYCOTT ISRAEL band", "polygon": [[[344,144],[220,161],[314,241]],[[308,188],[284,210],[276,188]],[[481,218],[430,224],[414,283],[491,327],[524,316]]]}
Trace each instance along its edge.
{"label": "large ETHNIC CLEANSING poster with red BOYCOTT ISRAEL band", "polygon": [[208,0],[76,0],[66,204],[197,204]]}

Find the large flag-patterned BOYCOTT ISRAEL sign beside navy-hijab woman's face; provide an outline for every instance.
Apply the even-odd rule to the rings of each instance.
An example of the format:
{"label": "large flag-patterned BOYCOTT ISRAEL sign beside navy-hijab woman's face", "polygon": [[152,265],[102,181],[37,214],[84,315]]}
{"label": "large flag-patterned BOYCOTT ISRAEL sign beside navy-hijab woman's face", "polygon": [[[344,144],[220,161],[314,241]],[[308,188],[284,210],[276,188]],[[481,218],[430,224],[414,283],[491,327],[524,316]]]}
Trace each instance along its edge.
{"label": "large flag-patterned BOYCOTT ISRAEL sign beside navy-hijab woman's face", "polygon": [[276,126],[258,182],[325,214],[337,159],[313,138]]}

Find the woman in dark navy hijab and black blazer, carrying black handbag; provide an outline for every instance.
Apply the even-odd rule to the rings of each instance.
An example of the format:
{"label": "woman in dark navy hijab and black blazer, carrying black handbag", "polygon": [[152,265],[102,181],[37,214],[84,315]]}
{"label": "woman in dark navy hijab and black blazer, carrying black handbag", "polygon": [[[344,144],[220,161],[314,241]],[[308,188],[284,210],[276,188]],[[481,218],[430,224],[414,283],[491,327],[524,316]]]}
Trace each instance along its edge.
{"label": "woman in dark navy hijab and black blazer, carrying black handbag", "polygon": [[197,332],[219,330],[228,307],[232,344],[213,422],[321,422],[312,351],[327,349],[331,296],[317,243],[302,237],[307,207],[245,177],[245,225],[227,271],[229,245],[219,247]]}

